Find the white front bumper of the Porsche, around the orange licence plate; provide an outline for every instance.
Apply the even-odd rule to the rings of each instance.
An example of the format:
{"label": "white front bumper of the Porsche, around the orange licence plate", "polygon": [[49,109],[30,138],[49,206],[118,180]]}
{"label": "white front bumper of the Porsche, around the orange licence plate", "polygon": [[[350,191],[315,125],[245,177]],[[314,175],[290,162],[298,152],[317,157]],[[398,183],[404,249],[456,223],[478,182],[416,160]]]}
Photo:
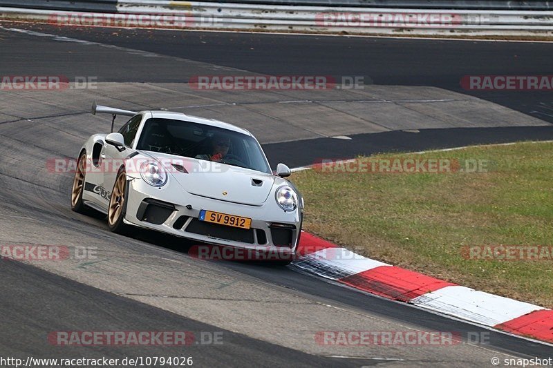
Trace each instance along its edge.
{"label": "white front bumper of the Porsche, around the orange licence plate", "polygon": [[[263,206],[250,206],[192,195],[169,184],[156,188],[135,178],[129,181],[126,198],[124,220],[127,224],[198,242],[255,251],[293,255],[297,248],[301,210],[285,212],[271,201],[271,196]],[[202,209],[251,218],[250,230],[199,221]]]}

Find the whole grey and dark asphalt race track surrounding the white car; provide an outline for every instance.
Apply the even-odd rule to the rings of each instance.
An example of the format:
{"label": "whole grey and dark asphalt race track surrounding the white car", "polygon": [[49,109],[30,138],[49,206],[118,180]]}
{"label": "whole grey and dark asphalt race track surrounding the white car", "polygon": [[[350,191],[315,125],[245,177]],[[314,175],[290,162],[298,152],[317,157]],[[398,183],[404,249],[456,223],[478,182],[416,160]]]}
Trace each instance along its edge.
{"label": "whole grey and dark asphalt race track surrounding the white car", "polygon": [[[0,90],[0,244],[88,246],[93,259],[0,260],[0,356],[193,356],[194,365],[243,367],[491,367],[492,357],[553,356],[553,347],[488,331],[329,284],[294,267],[205,262],[189,244],[109,232],[69,206],[74,158],[109,130],[94,99],[167,108],[245,126],[272,166],[321,157],[553,139],[551,92],[466,93],[463,75],[539,75],[548,43],[78,29],[3,23],[0,75],[95,77],[94,88]],[[21,30],[25,30],[21,32]],[[30,30],[30,31],[29,31]],[[516,55],[516,56],[515,56]],[[362,90],[199,91],[197,75],[363,76]],[[118,120],[122,123],[122,119]],[[350,139],[337,139],[346,135]],[[293,177],[292,177],[293,179]],[[53,331],[222,333],[222,345],[66,347]],[[453,346],[319,345],[319,331],[458,331]],[[487,336],[487,343],[469,336]]]}

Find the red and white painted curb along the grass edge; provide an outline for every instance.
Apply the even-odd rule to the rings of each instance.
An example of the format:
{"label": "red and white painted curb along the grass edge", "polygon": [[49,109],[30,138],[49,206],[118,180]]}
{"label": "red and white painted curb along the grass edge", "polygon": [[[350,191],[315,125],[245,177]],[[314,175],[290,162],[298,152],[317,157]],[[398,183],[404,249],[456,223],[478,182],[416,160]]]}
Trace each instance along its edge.
{"label": "red and white painted curb along the grass edge", "polygon": [[365,258],[302,233],[298,259],[308,273],[382,298],[453,316],[478,325],[553,343],[553,310],[452,284]]}

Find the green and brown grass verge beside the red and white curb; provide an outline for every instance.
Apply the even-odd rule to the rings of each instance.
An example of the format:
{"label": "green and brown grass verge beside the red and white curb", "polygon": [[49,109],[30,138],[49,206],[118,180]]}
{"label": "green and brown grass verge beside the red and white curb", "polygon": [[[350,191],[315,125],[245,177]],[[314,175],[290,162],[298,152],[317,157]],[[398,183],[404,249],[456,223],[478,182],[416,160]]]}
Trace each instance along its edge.
{"label": "green and brown grass verge beside the red and white curb", "polygon": [[[305,197],[306,231],[370,258],[553,307],[553,254],[547,252],[553,245],[553,143],[359,159],[368,162],[367,171],[385,170],[386,162],[393,167],[395,159],[401,168],[352,173],[335,165],[294,173]],[[440,173],[397,173],[412,167],[405,159],[445,164]],[[490,253],[500,245],[525,248]],[[529,246],[543,248],[536,257],[528,255]]]}

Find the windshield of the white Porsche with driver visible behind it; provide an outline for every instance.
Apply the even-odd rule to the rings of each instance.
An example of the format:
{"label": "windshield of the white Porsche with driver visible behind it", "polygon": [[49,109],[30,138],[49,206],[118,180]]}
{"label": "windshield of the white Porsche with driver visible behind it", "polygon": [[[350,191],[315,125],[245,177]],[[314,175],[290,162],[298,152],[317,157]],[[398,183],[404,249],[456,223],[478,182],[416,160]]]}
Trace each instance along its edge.
{"label": "windshield of the white Porsche with driver visible behind it", "polygon": [[147,119],[136,147],[271,173],[259,143],[250,135],[174,119]]}

